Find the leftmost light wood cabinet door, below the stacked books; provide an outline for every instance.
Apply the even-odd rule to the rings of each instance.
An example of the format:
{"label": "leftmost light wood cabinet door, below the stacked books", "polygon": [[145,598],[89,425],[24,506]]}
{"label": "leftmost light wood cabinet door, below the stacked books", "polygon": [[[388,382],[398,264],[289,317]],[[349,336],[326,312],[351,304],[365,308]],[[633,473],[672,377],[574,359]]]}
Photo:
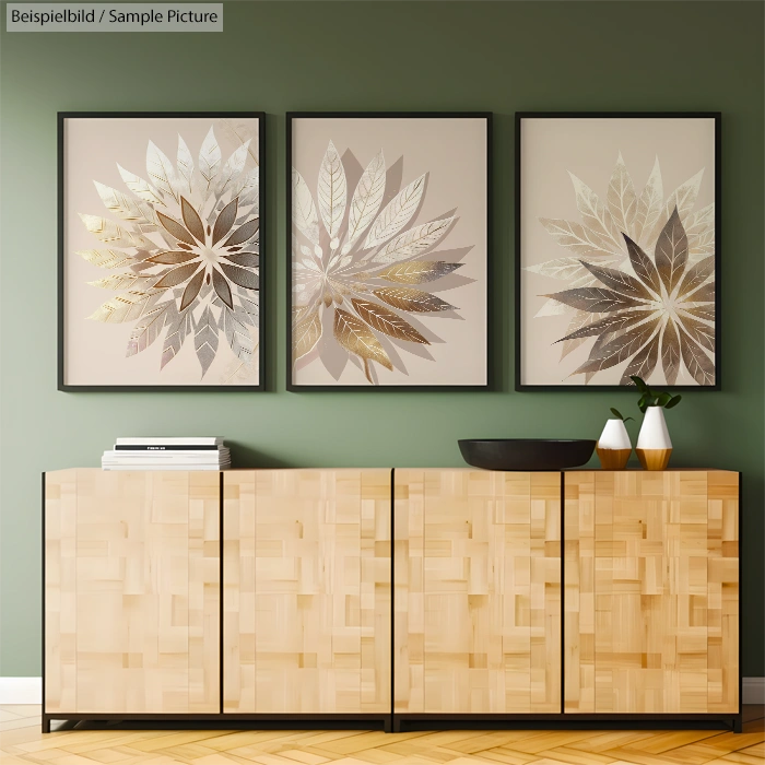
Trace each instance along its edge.
{"label": "leftmost light wood cabinet door, below the stacked books", "polygon": [[220,710],[220,475],[45,481],[45,713]]}

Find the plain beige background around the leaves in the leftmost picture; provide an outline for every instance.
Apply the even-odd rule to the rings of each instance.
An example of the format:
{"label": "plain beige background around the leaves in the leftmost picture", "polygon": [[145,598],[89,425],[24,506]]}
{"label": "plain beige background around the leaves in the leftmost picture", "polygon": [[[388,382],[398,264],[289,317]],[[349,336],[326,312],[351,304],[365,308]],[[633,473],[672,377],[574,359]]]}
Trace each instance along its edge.
{"label": "plain beige background around the leaves in the leftmost picture", "polygon": [[[254,118],[254,126],[258,119]],[[195,386],[257,385],[258,350],[252,354],[251,373],[245,379],[226,381],[240,362],[232,353],[223,334],[219,338],[215,360],[202,378],[193,349],[193,337],[187,337],[178,355],[164,369],[160,368],[162,336],[150,348],[133,356],[125,352],[133,321],[103,323],[87,317],[103,303],[123,291],[102,290],[87,282],[107,276],[113,271],[89,263],[78,250],[107,249],[82,223],[79,213],[115,219],[104,207],[94,180],[129,191],[117,164],[146,178],[146,146],[153,141],[175,163],[180,134],[191,152],[195,165],[199,149],[210,127],[221,146],[222,163],[240,144],[229,137],[216,118],[69,118],[64,122],[64,384],[71,386]],[[257,151],[257,140],[254,150]],[[252,145],[252,144],[250,144]],[[254,166],[248,158],[247,166]],[[156,235],[149,238],[161,242]],[[122,269],[126,270],[126,269]],[[257,334],[250,328],[257,343]]]}

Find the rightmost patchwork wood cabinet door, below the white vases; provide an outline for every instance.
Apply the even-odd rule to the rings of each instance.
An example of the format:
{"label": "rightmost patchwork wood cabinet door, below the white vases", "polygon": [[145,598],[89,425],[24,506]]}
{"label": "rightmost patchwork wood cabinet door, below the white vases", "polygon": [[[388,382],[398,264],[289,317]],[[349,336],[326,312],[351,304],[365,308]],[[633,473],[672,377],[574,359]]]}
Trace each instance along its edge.
{"label": "rightmost patchwork wood cabinet door, below the white vases", "polygon": [[739,710],[739,474],[567,472],[565,710]]}

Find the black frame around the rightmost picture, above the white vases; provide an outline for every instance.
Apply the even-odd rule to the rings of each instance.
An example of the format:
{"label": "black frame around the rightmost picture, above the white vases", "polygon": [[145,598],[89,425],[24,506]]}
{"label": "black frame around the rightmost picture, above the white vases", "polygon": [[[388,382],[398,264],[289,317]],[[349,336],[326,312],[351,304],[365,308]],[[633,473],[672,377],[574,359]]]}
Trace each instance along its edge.
{"label": "black frame around the rightmost picture, above the white vases", "polygon": [[633,386],[621,385],[529,385],[521,382],[522,365],[522,306],[521,306],[521,222],[522,222],[522,121],[525,119],[710,119],[715,125],[714,167],[715,167],[715,385],[693,386],[676,385],[661,386],[662,390],[672,391],[718,391],[721,390],[721,339],[722,321],[720,311],[720,235],[721,235],[721,201],[722,201],[722,165],[721,165],[721,113],[720,111],[516,111],[515,115],[515,390],[518,392],[533,391],[624,391],[634,389]]}

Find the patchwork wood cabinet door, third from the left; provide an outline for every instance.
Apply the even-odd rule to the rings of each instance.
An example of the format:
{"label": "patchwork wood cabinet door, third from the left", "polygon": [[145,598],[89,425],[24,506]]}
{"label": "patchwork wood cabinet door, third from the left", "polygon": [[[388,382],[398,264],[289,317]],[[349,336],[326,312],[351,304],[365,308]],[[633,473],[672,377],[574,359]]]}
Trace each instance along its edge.
{"label": "patchwork wood cabinet door, third from the left", "polygon": [[561,711],[561,473],[395,471],[395,708]]}

